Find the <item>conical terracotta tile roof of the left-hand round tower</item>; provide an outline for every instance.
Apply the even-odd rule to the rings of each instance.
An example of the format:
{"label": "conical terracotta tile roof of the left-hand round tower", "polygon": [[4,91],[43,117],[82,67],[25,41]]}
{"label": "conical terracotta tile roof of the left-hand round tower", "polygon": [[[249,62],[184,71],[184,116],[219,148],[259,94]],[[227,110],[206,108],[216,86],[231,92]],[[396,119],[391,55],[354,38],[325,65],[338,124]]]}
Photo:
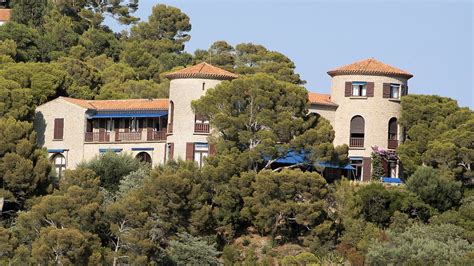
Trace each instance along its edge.
{"label": "conical terracotta tile roof of the left-hand round tower", "polygon": [[203,79],[234,79],[238,75],[227,70],[215,67],[206,62],[199,63],[166,75],[169,79],[203,78]]}

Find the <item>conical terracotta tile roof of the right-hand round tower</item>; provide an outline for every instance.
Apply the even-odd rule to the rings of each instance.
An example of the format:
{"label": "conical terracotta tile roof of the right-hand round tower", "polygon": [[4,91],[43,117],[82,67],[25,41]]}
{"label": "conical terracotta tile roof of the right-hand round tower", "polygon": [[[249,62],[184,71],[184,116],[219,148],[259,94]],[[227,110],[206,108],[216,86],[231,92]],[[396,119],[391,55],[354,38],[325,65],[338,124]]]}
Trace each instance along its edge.
{"label": "conical terracotta tile roof of the right-hand round tower", "polygon": [[387,76],[398,76],[404,78],[413,77],[412,74],[398,69],[396,67],[382,63],[374,58],[365,59],[352,63],[350,65],[342,66],[333,70],[328,71],[329,76],[334,77],[337,75],[387,75]]}

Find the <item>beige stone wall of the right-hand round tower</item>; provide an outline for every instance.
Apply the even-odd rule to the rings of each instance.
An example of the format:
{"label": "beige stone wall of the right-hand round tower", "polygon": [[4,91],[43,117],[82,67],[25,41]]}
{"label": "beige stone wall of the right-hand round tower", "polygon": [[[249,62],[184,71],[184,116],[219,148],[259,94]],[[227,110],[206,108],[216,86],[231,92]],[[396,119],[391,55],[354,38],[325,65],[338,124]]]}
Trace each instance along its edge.
{"label": "beige stone wall of the right-hand round tower", "polygon": [[[374,82],[374,97],[345,97],[346,81]],[[383,98],[383,83],[407,85],[407,80],[404,78],[370,75],[340,75],[332,78],[331,100],[339,105],[333,123],[336,132],[334,144],[349,143],[350,121],[352,117],[360,115],[365,120],[365,147],[363,149],[351,148],[349,156],[370,157],[371,147],[375,145],[387,148],[388,122],[392,117],[399,119],[401,105],[399,100]],[[398,139],[400,139],[400,132],[401,130],[399,129]]]}

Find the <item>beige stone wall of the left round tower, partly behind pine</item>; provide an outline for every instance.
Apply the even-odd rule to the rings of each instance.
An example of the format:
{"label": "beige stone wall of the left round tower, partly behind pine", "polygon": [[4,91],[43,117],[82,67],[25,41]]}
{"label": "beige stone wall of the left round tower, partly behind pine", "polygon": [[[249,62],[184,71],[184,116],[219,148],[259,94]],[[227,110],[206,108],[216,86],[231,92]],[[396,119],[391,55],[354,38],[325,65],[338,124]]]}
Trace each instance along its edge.
{"label": "beige stone wall of the left round tower, partly behind pine", "polygon": [[[195,115],[191,102],[199,99],[206,90],[215,87],[220,82],[220,80],[194,78],[171,80],[169,99],[174,103],[174,118],[173,133],[168,135],[167,142],[174,143],[174,159],[186,159],[187,142],[207,142],[208,134],[194,133]],[[171,104],[168,120],[170,117]]]}

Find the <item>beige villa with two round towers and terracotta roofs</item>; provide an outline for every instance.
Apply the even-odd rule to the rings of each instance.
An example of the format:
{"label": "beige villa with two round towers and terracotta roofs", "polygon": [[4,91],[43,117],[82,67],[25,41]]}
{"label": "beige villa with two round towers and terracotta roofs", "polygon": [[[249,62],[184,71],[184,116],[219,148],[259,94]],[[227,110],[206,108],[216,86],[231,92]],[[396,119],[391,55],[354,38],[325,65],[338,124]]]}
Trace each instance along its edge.
{"label": "beige villa with two round towers and terracotta roofs", "polygon": [[[330,121],[335,145],[348,144],[353,179],[370,179],[374,146],[395,149],[400,97],[411,74],[375,59],[331,70],[331,94],[309,93],[310,112]],[[202,165],[213,153],[209,120],[195,114],[191,102],[236,74],[207,63],[167,75],[169,99],[80,100],[59,97],[36,108],[35,129],[57,172],[95,155],[127,152],[161,164],[169,159]],[[398,176],[398,162],[387,162],[387,176]]]}

